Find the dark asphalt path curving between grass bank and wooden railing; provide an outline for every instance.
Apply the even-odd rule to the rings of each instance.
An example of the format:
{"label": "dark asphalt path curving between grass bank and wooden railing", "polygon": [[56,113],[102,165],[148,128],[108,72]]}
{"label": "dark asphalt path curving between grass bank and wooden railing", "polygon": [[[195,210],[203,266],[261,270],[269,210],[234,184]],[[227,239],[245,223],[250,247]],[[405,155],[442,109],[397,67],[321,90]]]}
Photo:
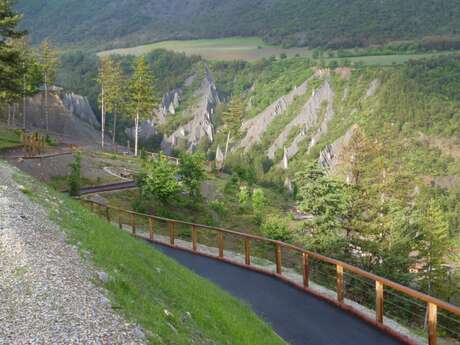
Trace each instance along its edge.
{"label": "dark asphalt path curving between grass bank and wooden railing", "polygon": [[291,345],[401,344],[351,314],[274,277],[178,249],[155,247],[251,305]]}

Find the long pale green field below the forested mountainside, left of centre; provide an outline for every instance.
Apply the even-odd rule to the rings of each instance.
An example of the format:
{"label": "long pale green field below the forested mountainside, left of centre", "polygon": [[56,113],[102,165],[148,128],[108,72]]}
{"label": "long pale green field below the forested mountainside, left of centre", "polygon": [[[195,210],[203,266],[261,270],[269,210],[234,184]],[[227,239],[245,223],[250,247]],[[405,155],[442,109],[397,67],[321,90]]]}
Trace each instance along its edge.
{"label": "long pale green field below the forested mountainside, left of centre", "polygon": [[187,55],[199,55],[208,60],[246,60],[254,61],[270,56],[310,56],[308,48],[290,48],[268,45],[257,37],[230,37],[220,39],[204,39],[190,41],[164,41],[138,47],[114,49],[100,52],[99,56],[110,54],[142,55],[154,49],[167,49],[183,52]]}

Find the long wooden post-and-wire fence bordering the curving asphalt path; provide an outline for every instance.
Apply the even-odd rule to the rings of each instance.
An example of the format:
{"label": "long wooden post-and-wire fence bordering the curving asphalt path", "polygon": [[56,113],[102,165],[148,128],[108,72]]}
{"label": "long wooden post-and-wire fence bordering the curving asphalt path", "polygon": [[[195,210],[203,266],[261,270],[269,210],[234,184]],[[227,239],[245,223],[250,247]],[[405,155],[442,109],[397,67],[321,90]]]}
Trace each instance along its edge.
{"label": "long wooden post-and-wire fence bordering the curving asphalt path", "polygon": [[[437,345],[439,335],[451,339],[449,344],[460,344],[459,307],[345,262],[256,235],[136,213],[86,199],[81,201],[107,221],[116,222],[120,229],[128,225],[136,237],[276,276],[334,303],[407,344],[417,342],[403,336],[392,320],[412,329],[426,330],[429,345]],[[235,253],[241,253],[241,260]],[[264,256],[269,257],[265,262],[272,262],[273,269],[257,264]],[[320,268],[322,265],[327,266],[326,273]],[[289,274],[292,272],[298,273],[301,281],[292,278]],[[311,284],[325,288],[318,292]],[[363,297],[366,290],[369,298]],[[334,291],[334,296],[325,291]],[[365,308],[356,308],[356,303]],[[373,316],[364,310],[372,311]]]}

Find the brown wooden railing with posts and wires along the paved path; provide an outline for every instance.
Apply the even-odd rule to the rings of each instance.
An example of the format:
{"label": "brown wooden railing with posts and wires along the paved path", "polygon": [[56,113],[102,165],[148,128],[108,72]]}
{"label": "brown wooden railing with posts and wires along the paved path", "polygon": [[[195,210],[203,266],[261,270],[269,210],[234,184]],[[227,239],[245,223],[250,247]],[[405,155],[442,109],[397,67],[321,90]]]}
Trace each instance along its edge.
{"label": "brown wooden railing with posts and wires along the paved path", "polygon": [[[438,319],[441,311],[444,313],[442,314],[442,316],[446,317],[449,320],[449,326],[442,327],[443,334],[447,334],[449,337],[453,339],[453,341],[458,341],[458,343],[453,344],[460,344],[459,307],[439,300],[437,298],[434,298],[432,296],[426,295],[422,292],[416,291],[409,287],[395,283],[391,280],[366,272],[358,267],[352,266],[345,262],[332,259],[321,254],[317,254],[305,250],[303,248],[296,247],[288,243],[283,243],[280,241],[275,241],[252,234],[246,234],[218,227],[193,224],[189,222],[136,213],[128,210],[123,210],[117,207],[106,206],[86,199],[81,199],[81,201],[89,205],[92,211],[95,211],[104,216],[107,219],[107,221],[116,221],[120,229],[124,228],[124,225],[128,225],[132,235],[134,236],[142,237],[153,242],[161,243],[163,245],[188,250],[196,254],[210,256],[255,271],[260,271],[266,274],[274,275],[286,282],[289,282],[290,284],[293,284],[301,289],[313,293],[318,297],[327,299],[328,301],[333,302],[334,304],[346,309],[347,311],[353,312],[355,315],[361,317],[362,319],[365,319],[366,321],[374,324],[382,330],[391,333],[393,336],[402,339],[404,342],[408,344],[413,344],[414,342],[411,341],[408,337],[402,336],[398,330],[395,330],[394,327],[392,327],[389,324],[386,324],[386,321],[388,321],[392,317],[392,315],[388,317],[385,316],[385,302],[387,302],[390,305],[389,297],[395,296],[396,293],[402,294],[405,297],[401,298],[405,300],[407,300],[408,298],[415,299],[419,302],[419,306],[421,305],[425,308],[424,313],[419,313],[422,315],[418,316],[423,320],[422,327],[426,328],[427,340],[429,345],[438,344]],[[161,226],[165,227],[161,228],[160,224],[162,224]],[[182,227],[182,230],[179,230],[179,227]],[[160,236],[161,231],[163,231],[164,234],[161,236],[163,240],[157,238],[157,236]],[[202,243],[199,243],[200,233],[202,234]],[[215,234],[215,236],[211,236],[211,238],[209,238],[210,234]],[[181,241],[182,244],[178,244],[177,241],[181,239],[181,236],[182,238],[185,237],[186,240],[185,242]],[[166,239],[166,241],[164,239]],[[226,239],[233,240],[226,241]],[[237,260],[235,258],[235,255],[227,257],[225,255],[226,250],[228,250],[227,253],[238,252],[238,249],[235,249],[238,248],[238,246],[235,244],[241,243],[241,241],[243,244],[242,260]],[[190,246],[185,245],[184,243],[190,243]],[[270,252],[273,254],[273,271],[269,268],[264,268],[260,265],[258,266],[257,264],[253,263],[253,261],[256,258],[258,258],[253,255],[255,253],[254,247],[257,244],[262,244],[265,246],[265,254]],[[206,246],[206,248],[215,248],[217,250],[215,253],[210,253],[209,250],[203,251],[200,250],[200,245]],[[229,248],[227,248],[227,246]],[[316,263],[329,265],[331,268],[333,268],[333,270],[331,270],[322,281],[329,281],[330,284],[327,287],[329,290],[331,289],[331,287],[332,291],[335,290],[335,297],[331,297],[330,294],[327,295],[324,293],[315,292],[314,289],[310,287],[310,284],[312,283],[311,275],[315,272],[319,273],[319,270],[316,271],[314,269],[313,261],[315,261]],[[294,267],[295,271],[300,274],[300,276],[302,277],[301,282],[295,281],[291,277],[288,277],[284,274],[285,270],[292,270],[288,269],[288,266]],[[347,276],[350,274],[354,276]],[[319,274],[317,274],[317,276],[319,277]],[[373,290],[373,305],[366,306],[368,309],[373,310],[375,313],[372,319],[369,318],[369,316],[366,315],[366,313],[363,312],[363,310],[358,310],[353,306],[353,300],[351,299],[352,296],[350,296],[350,298],[346,298],[346,282],[351,281],[353,285],[353,282],[357,281],[356,279],[367,281],[368,283],[370,283],[369,285]],[[318,280],[321,281],[321,279],[319,278]],[[350,290],[353,290],[352,285],[349,288]],[[387,295],[387,298],[385,298],[385,295]],[[392,310],[392,308],[395,307],[397,306],[395,306],[394,301],[392,301],[391,308],[388,308],[388,310]],[[404,308],[401,307],[401,309]],[[412,311],[412,314],[416,313]],[[397,319],[398,322],[404,321],[401,317],[397,317]],[[412,325],[412,322],[406,323]]]}

